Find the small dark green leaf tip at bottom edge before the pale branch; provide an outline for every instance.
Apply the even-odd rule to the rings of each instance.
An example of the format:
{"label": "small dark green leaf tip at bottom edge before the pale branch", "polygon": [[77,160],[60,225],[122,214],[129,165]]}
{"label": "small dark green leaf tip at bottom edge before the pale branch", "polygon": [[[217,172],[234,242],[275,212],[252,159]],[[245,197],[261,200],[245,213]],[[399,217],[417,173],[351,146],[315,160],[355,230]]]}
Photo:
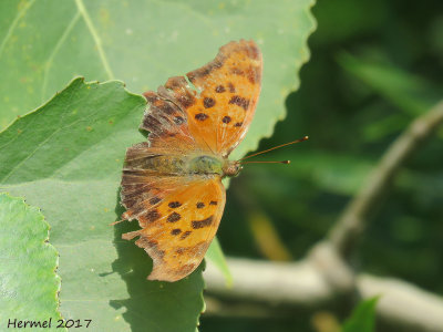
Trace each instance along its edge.
{"label": "small dark green leaf tip at bottom edge before the pale branch", "polygon": [[351,317],[344,322],[342,332],[373,332],[375,305],[379,297],[371,298],[361,302],[352,312]]}

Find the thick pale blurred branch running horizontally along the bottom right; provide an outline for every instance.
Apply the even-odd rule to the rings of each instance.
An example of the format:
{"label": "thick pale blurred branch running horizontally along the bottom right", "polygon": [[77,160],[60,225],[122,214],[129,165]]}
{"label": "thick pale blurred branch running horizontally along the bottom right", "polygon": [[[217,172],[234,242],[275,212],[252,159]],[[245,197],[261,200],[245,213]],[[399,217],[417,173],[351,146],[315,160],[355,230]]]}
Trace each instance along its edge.
{"label": "thick pale blurred branch running horizontally along the bottom right", "polygon": [[[204,277],[212,300],[207,314],[254,318],[286,312],[293,317],[290,308],[321,309],[338,299],[337,286],[324,278],[332,266],[315,260],[284,263],[229,258],[228,266],[234,278],[231,288],[226,288],[215,266],[207,264]],[[392,325],[391,331],[443,332],[443,298],[399,279],[370,274],[359,274],[356,289],[363,299],[381,295],[377,305],[379,322]],[[230,301],[226,303],[226,299]]]}

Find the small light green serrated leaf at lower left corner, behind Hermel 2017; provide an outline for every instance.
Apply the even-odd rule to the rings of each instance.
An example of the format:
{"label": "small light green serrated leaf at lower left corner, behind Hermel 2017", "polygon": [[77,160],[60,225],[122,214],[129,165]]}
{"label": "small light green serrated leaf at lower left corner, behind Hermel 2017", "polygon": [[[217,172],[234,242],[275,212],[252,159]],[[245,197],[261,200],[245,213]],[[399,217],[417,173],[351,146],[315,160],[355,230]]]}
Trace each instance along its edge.
{"label": "small light green serrated leaf at lower left corner, behind Hermel 2017", "polygon": [[[49,225],[37,207],[22,198],[0,194],[0,312],[1,325],[20,320],[61,319],[58,311],[60,278],[58,252],[48,243]],[[14,321],[17,319],[17,321]],[[9,325],[12,329],[12,325]],[[34,329],[37,329],[34,325]]]}

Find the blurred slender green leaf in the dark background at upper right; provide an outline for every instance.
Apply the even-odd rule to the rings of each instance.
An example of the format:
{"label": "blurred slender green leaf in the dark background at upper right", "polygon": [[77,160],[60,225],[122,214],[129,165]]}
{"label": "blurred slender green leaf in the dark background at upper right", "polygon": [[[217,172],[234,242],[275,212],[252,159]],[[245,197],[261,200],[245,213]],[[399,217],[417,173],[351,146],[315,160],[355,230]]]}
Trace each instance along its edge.
{"label": "blurred slender green leaf in the dark background at upper right", "polygon": [[359,59],[349,53],[341,53],[339,63],[347,72],[411,117],[426,112],[441,97],[440,91],[429,82],[387,61]]}

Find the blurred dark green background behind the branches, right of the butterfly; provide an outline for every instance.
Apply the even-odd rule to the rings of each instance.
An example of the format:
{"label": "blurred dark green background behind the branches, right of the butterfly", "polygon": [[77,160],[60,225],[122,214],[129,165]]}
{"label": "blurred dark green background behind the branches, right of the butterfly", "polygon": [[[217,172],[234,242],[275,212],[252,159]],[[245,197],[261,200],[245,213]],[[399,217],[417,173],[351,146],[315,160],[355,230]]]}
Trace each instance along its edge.
{"label": "blurred dark green background behind the branches, right of the butterfly", "polygon": [[[390,144],[443,96],[442,1],[319,0],[312,11],[318,29],[301,86],[259,151],[310,139],[256,158],[290,165],[247,165],[230,181],[218,232],[229,257],[302,258]],[[395,175],[353,253],[358,271],[443,294],[442,166],[440,128]],[[320,331],[321,314],[204,314],[200,322],[203,331]],[[340,310],[327,317],[343,320]]]}

